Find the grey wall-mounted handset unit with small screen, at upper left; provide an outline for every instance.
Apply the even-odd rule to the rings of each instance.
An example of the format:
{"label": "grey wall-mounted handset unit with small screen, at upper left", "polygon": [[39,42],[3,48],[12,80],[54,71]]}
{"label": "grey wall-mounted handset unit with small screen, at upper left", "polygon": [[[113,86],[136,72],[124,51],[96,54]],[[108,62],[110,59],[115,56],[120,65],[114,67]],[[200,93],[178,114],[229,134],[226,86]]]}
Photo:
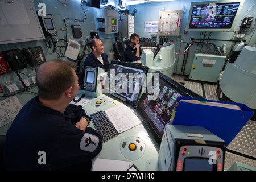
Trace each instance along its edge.
{"label": "grey wall-mounted handset unit with small screen, at upper left", "polygon": [[52,15],[45,14],[42,16],[38,16],[41,26],[43,28],[44,34],[47,36],[56,36],[57,31],[55,25],[53,23]]}

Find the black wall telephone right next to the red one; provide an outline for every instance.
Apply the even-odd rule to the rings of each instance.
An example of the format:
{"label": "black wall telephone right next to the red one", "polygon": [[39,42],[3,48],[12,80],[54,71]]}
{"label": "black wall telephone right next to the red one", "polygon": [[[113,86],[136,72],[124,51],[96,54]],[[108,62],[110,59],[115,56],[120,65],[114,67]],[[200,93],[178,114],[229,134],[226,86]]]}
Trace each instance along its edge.
{"label": "black wall telephone right next to the red one", "polygon": [[4,59],[13,71],[26,68],[27,63],[24,59],[23,53],[20,49],[11,49],[9,51],[2,51]]}

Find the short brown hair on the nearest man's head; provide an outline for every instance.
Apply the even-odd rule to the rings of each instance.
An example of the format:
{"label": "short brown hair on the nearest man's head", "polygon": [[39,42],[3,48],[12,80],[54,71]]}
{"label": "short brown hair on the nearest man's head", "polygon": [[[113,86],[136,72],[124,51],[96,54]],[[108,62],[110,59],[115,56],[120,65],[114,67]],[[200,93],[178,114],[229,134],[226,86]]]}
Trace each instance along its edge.
{"label": "short brown hair on the nearest man's head", "polygon": [[[45,69],[43,65],[48,63],[52,65]],[[63,59],[55,59],[40,65],[36,72],[39,97],[44,100],[58,100],[65,90],[75,83],[72,71],[74,67],[75,63]]]}

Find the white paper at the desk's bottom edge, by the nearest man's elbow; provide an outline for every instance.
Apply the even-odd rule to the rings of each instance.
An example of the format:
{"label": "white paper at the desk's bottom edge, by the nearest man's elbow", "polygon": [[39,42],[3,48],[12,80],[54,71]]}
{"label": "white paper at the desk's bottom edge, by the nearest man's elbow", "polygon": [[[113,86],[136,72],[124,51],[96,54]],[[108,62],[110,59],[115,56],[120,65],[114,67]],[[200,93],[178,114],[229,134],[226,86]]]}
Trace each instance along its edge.
{"label": "white paper at the desk's bottom edge, by the nearest man's elbow", "polygon": [[97,158],[94,161],[92,171],[126,171],[130,167],[130,161]]}

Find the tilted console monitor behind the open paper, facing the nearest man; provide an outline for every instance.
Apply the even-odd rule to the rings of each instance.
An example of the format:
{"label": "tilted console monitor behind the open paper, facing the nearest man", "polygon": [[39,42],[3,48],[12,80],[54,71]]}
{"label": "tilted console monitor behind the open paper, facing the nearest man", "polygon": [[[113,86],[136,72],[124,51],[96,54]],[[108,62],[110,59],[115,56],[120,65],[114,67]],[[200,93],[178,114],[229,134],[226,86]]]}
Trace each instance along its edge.
{"label": "tilted console monitor behind the open paper, facing the nearest man", "polygon": [[147,72],[148,67],[112,60],[108,71],[109,87],[107,89],[110,94],[134,107]]}

